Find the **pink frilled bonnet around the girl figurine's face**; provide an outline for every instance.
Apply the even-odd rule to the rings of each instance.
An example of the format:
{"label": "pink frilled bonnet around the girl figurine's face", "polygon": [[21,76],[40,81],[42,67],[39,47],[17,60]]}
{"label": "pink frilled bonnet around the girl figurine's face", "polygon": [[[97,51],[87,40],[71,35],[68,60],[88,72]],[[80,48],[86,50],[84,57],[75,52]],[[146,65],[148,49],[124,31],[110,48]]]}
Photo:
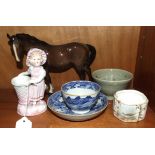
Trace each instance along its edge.
{"label": "pink frilled bonnet around the girl figurine's face", "polygon": [[41,65],[43,65],[46,62],[46,60],[47,60],[46,53],[43,50],[41,50],[41,49],[32,48],[27,53],[27,59],[26,59],[26,65],[27,66],[30,66],[30,59],[33,56],[33,54],[35,54],[35,53],[37,53],[37,54],[39,54],[41,56],[41,58],[42,58]]}

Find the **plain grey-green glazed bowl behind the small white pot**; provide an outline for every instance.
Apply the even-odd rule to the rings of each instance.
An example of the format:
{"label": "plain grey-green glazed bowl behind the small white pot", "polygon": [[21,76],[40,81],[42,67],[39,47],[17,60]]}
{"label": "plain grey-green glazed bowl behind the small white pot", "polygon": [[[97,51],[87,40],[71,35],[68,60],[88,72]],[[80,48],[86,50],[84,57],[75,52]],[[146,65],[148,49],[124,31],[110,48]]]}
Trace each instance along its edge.
{"label": "plain grey-green glazed bowl behind the small white pot", "polygon": [[99,69],[92,74],[95,82],[101,85],[101,91],[113,100],[116,91],[127,89],[133,74],[122,69]]}

